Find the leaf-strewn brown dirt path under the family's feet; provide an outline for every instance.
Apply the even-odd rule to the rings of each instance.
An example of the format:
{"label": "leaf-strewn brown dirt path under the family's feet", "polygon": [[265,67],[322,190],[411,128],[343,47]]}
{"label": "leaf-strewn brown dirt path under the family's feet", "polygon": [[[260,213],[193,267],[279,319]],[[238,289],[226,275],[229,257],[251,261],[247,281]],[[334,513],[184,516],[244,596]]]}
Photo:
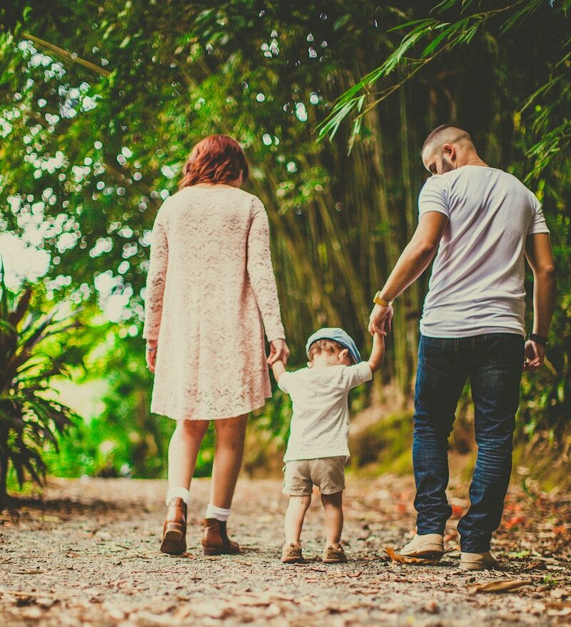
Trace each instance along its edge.
{"label": "leaf-strewn brown dirt path under the family's feet", "polygon": [[[158,551],[165,484],[123,479],[53,480],[42,501],[0,516],[2,626],[463,626],[562,625],[571,621],[571,497],[515,491],[493,547],[507,571],[458,569],[451,549],[438,566],[403,566],[383,549],[414,527],[413,485],[385,476],[349,479],[345,540],[350,561],[325,566],[318,499],[308,512],[304,550],[313,561],[278,561],[285,497],[276,480],[238,483],[230,521],[241,556],[198,550],[208,481],[193,483],[182,557]],[[453,487],[458,517],[467,502]],[[478,583],[528,582],[509,593]]]}

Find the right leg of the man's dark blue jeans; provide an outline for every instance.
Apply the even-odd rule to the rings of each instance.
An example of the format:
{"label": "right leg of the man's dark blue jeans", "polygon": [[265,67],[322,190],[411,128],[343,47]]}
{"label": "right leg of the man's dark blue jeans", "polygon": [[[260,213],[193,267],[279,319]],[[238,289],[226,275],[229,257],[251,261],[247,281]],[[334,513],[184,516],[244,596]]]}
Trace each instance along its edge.
{"label": "right leg of the man's dark blue jeans", "polygon": [[515,333],[475,338],[476,363],[470,368],[475,404],[477,461],[470,486],[470,509],[458,523],[462,551],[490,550],[500,525],[512,470],[515,412],[520,402],[524,340]]}

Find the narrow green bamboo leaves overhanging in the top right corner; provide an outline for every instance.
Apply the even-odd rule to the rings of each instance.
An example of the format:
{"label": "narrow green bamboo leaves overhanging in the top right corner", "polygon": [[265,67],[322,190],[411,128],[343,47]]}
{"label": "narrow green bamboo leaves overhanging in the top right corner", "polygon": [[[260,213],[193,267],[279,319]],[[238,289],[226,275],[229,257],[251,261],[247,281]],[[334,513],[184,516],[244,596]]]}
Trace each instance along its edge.
{"label": "narrow green bamboo leaves overhanging in the top right corner", "polygon": [[[466,15],[468,11],[474,11]],[[329,136],[333,139],[340,125],[351,114],[356,117],[353,121],[353,137],[360,133],[361,122],[370,109],[378,106],[398,89],[415,78],[421,71],[443,53],[451,53],[459,46],[468,46],[475,36],[484,34],[492,38],[495,44],[509,51],[510,47],[518,49],[525,39],[514,31],[527,21],[533,21],[532,29],[537,31],[538,26],[548,33],[550,42],[542,50],[547,53],[547,76],[539,87],[535,86],[531,93],[525,91],[520,96],[520,113],[525,113],[535,106],[535,114],[530,116],[536,142],[531,146],[527,155],[534,159],[532,174],[540,176],[542,171],[558,157],[566,158],[565,151],[571,145],[571,121],[567,114],[571,106],[571,87],[569,81],[569,66],[571,57],[571,38],[569,37],[569,13],[571,0],[557,3],[544,0],[517,0],[512,4],[497,6],[487,0],[465,1],[447,0],[437,4],[432,14],[439,18],[430,17],[413,19],[400,24],[390,32],[406,31],[400,44],[388,55],[383,64],[366,74],[353,87],[345,91],[328,117],[319,126],[319,136]],[[460,19],[458,19],[460,17]],[[540,24],[537,23],[540,21]],[[497,41],[500,37],[514,35],[515,41],[505,43]],[[553,42],[557,42],[555,51]],[[425,43],[425,48],[416,56],[415,47]],[[515,44],[515,46],[514,46]],[[554,54],[555,53],[555,54]],[[386,79],[395,70],[402,69],[397,81],[374,94],[370,88],[379,81]],[[418,79],[418,77],[417,77]],[[545,80],[545,75],[539,77]],[[559,88],[559,89],[557,89]],[[524,87],[525,89],[525,87]],[[369,98],[373,96],[373,98]],[[367,102],[363,108],[363,104]],[[351,144],[352,145],[352,144]]]}

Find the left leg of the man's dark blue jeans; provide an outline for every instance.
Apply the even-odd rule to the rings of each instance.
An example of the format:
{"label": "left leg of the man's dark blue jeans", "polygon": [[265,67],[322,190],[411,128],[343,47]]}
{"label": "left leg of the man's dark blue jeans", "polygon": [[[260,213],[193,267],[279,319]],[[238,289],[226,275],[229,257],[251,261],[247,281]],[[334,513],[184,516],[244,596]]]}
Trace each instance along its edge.
{"label": "left leg of the man's dark blue jeans", "polygon": [[458,398],[468,378],[465,338],[420,337],[415,387],[415,472],[417,533],[444,533],[452,513],[446,499],[448,436]]}

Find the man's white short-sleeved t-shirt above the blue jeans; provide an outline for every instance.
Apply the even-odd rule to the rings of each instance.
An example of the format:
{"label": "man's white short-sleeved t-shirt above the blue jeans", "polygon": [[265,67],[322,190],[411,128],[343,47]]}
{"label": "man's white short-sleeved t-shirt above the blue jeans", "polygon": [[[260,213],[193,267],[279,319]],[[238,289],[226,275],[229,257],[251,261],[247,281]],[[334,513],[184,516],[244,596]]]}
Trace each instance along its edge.
{"label": "man's white short-sleeved t-shirt above the blue jeans", "polygon": [[540,201],[515,176],[463,166],[426,181],[419,216],[448,216],[424,303],[420,332],[459,338],[525,336],[525,238],[549,233]]}

